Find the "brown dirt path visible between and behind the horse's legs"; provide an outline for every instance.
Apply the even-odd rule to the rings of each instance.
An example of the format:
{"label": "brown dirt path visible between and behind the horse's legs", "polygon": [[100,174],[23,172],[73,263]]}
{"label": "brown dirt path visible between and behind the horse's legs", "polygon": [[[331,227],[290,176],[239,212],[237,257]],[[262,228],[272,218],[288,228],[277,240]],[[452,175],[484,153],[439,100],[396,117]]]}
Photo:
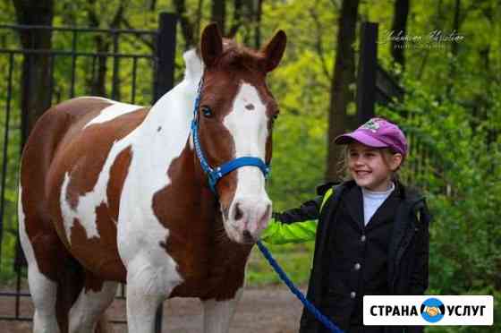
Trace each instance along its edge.
{"label": "brown dirt path visible between and behind the horse's legs", "polygon": [[[14,314],[14,299],[0,297],[0,316]],[[21,300],[21,315],[31,316],[29,298]],[[108,310],[112,320],[123,320],[125,303],[115,300]],[[163,332],[199,333],[202,331],[202,307],[195,298],[175,298],[164,303]],[[230,333],[293,333],[298,331],[301,303],[285,286],[247,288],[239,303]],[[116,324],[115,333],[126,332]],[[31,322],[0,320],[0,333],[31,331]]]}

